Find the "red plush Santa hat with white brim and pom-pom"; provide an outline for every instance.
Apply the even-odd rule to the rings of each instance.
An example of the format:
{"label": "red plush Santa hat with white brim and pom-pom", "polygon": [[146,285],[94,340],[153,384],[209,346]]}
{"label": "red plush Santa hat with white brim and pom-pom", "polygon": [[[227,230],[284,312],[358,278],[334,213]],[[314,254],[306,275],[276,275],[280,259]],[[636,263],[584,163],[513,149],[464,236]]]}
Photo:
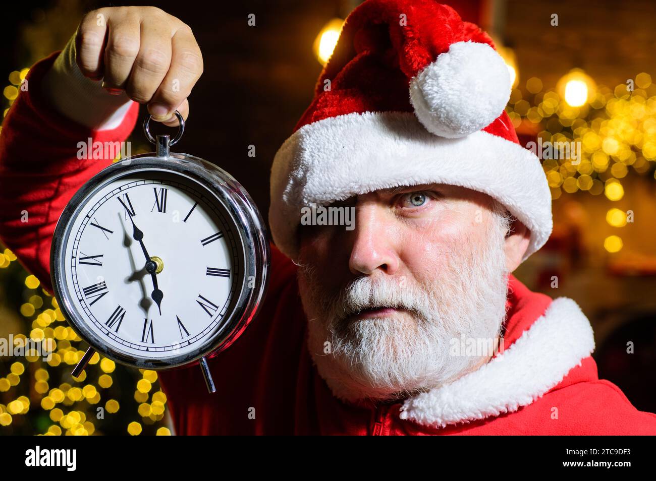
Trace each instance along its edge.
{"label": "red plush Santa hat with white brim and pom-pom", "polygon": [[346,18],[312,104],[276,153],[269,222],[298,256],[301,208],[423,183],[497,199],[530,230],[552,229],[535,154],[504,107],[510,73],[487,33],[432,0],[367,0]]}

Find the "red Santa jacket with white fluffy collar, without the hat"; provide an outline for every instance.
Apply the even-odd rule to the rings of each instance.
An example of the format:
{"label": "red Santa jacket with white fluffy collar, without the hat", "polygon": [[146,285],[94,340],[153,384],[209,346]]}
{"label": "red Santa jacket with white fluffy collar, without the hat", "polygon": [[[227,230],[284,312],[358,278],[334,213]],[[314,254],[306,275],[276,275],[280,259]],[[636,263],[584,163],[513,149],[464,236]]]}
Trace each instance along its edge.
{"label": "red Santa jacket with white fluffy collar, without the hat", "polygon": [[[30,90],[0,134],[0,236],[50,288],[51,237],[64,206],[110,164],[79,161],[77,142],[123,141],[138,105],[114,130],[96,132],[62,117],[39,83],[57,52],[28,74]],[[28,222],[22,222],[27,211]],[[296,266],[275,246],[272,279],[258,318],[209,362],[218,393],[196,366],[161,372],[178,434],[656,434],[639,412],[598,379],[592,328],[571,299],[554,301],[510,277],[504,350],[461,379],[396,403],[344,403],[312,364]]]}

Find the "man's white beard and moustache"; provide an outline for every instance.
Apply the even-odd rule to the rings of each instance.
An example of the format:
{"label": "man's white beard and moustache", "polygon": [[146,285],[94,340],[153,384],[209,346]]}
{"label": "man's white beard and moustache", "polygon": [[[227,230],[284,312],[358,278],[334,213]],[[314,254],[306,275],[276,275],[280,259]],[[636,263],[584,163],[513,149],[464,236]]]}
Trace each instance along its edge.
{"label": "man's white beard and moustache", "polygon": [[[312,265],[298,269],[308,317],[310,355],[335,396],[347,401],[392,400],[427,391],[485,362],[455,356],[455,340],[496,339],[506,314],[502,215],[495,211],[482,246],[461,242],[430,285],[389,277],[359,277],[329,295]],[[468,249],[469,248],[469,249]],[[362,309],[403,307],[413,320],[394,315],[347,318]]]}

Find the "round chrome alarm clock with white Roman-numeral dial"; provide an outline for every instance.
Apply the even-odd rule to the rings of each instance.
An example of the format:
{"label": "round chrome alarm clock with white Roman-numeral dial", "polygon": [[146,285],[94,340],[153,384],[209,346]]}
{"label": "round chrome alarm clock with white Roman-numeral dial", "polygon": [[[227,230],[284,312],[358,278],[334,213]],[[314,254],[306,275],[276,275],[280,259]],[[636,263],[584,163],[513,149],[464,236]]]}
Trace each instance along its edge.
{"label": "round chrome alarm clock with white Roman-numeral dial", "polygon": [[89,349],[134,368],[161,370],[227,349],[255,318],[268,284],[266,226],[228,172],[173,153],[144,133],[154,153],[108,166],[68,203],[54,231],[51,277],[59,307]]}

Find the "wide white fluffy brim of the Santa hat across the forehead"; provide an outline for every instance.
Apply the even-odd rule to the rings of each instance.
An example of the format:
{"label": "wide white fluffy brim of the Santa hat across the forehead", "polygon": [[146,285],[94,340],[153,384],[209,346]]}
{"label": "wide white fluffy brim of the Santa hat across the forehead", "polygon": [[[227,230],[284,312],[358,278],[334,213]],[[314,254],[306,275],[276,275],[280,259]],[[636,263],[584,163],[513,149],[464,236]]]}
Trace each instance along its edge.
{"label": "wide white fluffy brim of the Santa hat across the forehead", "polygon": [[295,259],[302,207],[425,183],[468,187],[501,202],[531,231],[523,260],[551,233],[551,193],[531,151],[482,130],[438,137],[411,112],[367,112],[304,125],[278,149],[271,169],[272,237]]}

